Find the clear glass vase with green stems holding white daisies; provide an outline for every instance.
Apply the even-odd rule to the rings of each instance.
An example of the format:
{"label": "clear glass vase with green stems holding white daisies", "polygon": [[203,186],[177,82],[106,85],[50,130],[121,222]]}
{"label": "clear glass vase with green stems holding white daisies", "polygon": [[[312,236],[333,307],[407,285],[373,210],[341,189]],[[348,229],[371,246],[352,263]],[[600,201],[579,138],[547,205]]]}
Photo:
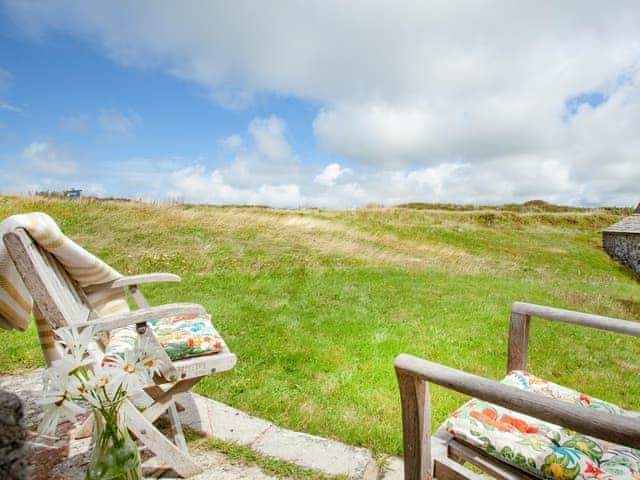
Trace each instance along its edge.
{"label": "clear glass vase with green stems holding white daisies", "polygon": [[93,451],[86,480],[142,480],[138,446],[129,435],[122,402],[94,409]]}

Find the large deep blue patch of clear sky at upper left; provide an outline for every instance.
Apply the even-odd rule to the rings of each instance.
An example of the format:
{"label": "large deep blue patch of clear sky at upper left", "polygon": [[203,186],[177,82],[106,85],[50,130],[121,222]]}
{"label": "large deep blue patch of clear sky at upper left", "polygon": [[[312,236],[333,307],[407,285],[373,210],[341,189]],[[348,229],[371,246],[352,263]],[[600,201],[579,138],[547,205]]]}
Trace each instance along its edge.
{"label": "large deep blue patch of clear sky at upper left", "polygon": [[[62,146],[83,168],[105,176],[114,162],[128,160],[215,168],[226,159],[221,141],[242,135],[252,119],[274,112],[286,122],[287,141],[301,158],[331,158],[315,148],[311,126],[319,107],[314,102],[260,95],[243,108],[229,109],[210,101],[192,82],[114,63],[92,42],[62,33],[34,39],[7,17],[0,32],[2,68],[9,74],[0,97],[5,105],[0,108],[2,161],[9,165],[21,163],[25,146],[36,141]],[[141,193],[119,188],[117,180],[107,183],[107,195]],[[66,185],[64,180],[58,184]]]}

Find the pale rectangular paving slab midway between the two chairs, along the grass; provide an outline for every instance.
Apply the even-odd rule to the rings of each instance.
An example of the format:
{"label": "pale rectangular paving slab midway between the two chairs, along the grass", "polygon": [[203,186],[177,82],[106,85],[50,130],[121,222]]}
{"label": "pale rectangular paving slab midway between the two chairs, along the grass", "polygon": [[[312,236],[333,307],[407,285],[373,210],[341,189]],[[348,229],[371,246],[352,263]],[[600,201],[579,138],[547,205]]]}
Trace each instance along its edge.
{"label": "pale rectangular paving slab midway between the two chairs, along the grass", "polygon": [[265,456],[286,460],[327,475],[364,477],[372,460],[365,448],[352,447],[325,438],[274,427],[265,432],[253,449]]}

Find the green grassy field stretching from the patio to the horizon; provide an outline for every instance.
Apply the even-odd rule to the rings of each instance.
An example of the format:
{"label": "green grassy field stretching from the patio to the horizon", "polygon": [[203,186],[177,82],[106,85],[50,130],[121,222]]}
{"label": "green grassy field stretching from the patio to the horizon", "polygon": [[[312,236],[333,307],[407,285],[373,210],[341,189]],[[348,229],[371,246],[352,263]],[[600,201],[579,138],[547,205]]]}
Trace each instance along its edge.
{"label": "green grassy field stretching from the patio to the horizon", "polygon": [[[429,207],[429,206],[427,206]],[[237,367],[198,391],[286,428],[401,451],[393,359],[412,353],[500,378],[510,304],[640,320],[640,286],[601,249],[628,210],[286,211],[0,197],[45,211],[122,273],[170,271],[152,304],[202,303]],[[531,370],[640,409],[637,340],[534,320]],[[33,329],[0,332],[0,371],[41,363]],[[434,388],[433,424],[463,397]]]}

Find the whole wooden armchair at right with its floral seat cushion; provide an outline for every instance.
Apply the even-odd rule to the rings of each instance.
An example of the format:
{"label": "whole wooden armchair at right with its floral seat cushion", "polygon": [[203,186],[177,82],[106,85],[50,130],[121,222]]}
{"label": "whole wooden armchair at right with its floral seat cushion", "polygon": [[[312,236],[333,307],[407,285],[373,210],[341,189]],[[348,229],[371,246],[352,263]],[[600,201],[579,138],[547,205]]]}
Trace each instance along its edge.
{"label": "whole wooden armchair at right with its floral seat cushion", "polygon": [[[503,382],[399,355],[395,369],[402,402],[405,480],[486,478],[465,462],[504,480],[639,477],[640,414],[526,372],[532,316],[640,337],[637,322],[516,302],[509,326],[508,376]],[[522,380],[524,386],[510,382],[510,377]],[[475,397],[433,436],[429,383]],[[527,418],[522,420],[521,414]],[[505,444],[510,439],[518,441]],[[522,453],[527,445],[542,453],[527,457]],[[547,455],[544,464],[541,455]]]}

